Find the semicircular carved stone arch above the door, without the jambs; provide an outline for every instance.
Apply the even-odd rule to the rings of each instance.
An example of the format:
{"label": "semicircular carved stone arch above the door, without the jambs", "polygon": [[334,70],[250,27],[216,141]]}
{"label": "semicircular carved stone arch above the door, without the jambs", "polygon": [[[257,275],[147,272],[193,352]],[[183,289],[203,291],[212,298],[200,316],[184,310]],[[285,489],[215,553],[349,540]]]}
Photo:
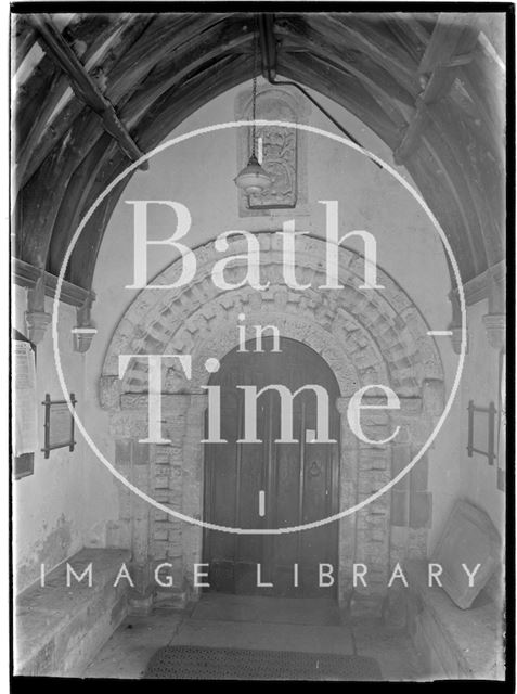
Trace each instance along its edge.
{"label": "semicircular carved stone arch above the door, without the jambs", "polygon": [[[319,333],[320,344],[315,351],[322,354],[329,345],[341,345],[344,358],[353,357],[363,372],[382,360],[380,373],[376,375],[385,375],[401,397],[418,397],[426,380],[443,381],[440,356],[435,342],[427,335],[425,320],[386,272],[377,269],[377,282],[383,290],[361,290],[364,258],[353,250],[340,248],[339,282],[344,288],[320,290],[325,283],[325,242],[300,236],[296,255],[298,281],[310,282],[311,288],[295,292],[282,284],[281,239],[274,232],[260,233],[258,239],[261,279],[270,282],[268,290],[257,292],[245,286],[235,292],[223,292],[214,284],[211,269],[217,260],[246,253],[247,242],[241,236],[229,240],[225,253],[216,252],[214,242],[198,247],[193,252],[196,275],[188,286],[144,290],[131,304],[114,332],[102,376],[118,377],[120,354],[194,354],[194,346],[198,351],[199,344],[208,335],[222,335],[221,321],[228,323],[230,317],[233,321],[244,312],[254,319],[276,313],[284,321],[287,317],[309,321],[324,331]],[[173,262],[152,284],[172,284],[181,262]],[[227,273],[228,280],[238,282],[244,278],[245,269],[245,260],[236,259]],[[235,325],[236,320],[233,323],[236,335]],[[229,325],[224,327],[228,330]],[[193,384],[202,384],[199,378]],[[144,360],[134,360],[126,372],[120,391],[142,391],[145,380]]]}

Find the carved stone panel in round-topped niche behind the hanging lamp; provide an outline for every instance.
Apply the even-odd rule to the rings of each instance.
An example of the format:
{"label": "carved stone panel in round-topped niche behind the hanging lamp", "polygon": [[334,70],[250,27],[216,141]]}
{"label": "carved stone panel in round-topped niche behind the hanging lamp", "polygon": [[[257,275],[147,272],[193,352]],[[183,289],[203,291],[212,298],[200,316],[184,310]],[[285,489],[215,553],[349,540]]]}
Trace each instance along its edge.
{"label": "carved stone panel in round-topped niche behind the hanging lamp", "polygon": [[[251,120],[251,89],[237,94],[235,119]],[[307,121],[310,107],[302,94],[287,87],[264,86],[257,91],[257,120]],[[253,129],[238,128],[237,165],[240,171],[251,153]],[[307,205],[307,132],[281,126],[257,126],[257,154],[272,179],[271,187],[257,195],[238,192],[241,217],[268,215],[272,209],[300,209]]]}

